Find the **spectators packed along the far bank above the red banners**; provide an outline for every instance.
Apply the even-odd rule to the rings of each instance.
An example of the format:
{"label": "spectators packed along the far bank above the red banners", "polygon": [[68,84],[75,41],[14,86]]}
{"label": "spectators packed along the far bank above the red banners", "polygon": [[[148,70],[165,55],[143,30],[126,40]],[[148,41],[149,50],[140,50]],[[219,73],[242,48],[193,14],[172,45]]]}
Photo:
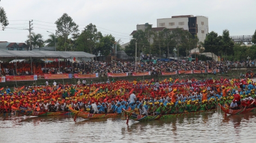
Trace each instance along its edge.
{"label": "spectators packed along the far bank above the red banners", "polygon": [[[17,65],[16,65],[17,64]],[[2,62],[1,75],[32,75],[32,74],[107,74],[107,73],[142,73],[151,72],[151,74],[159,74],[161,72],[174,72],[176,70],[205,70],[219,69],[220,72],[226,72],[231,67],[252,67],[256,66],[255,61],[230,62],[230,61],[88,61],[88,62],[70,62],[69,60],[60,62]],[[32,69],[31,69],[32,67]],[[16,69],[17,68],[17,69]],[[137,71],[135,71],[137,70]]]}

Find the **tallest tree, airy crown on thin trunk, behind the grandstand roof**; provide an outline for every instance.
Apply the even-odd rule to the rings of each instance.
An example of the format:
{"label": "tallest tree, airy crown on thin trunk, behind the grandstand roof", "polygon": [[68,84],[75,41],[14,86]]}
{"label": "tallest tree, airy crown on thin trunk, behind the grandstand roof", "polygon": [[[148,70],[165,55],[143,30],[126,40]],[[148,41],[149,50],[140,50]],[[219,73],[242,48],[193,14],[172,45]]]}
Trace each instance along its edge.
{"label": "tallest tree, airy crown on thin trunk, behind the grandstand roof", "polygon": [[[64,38],[64,43],[66,43],[66,40],[70,34],[72,36],[76,36],[78,34],[78,25],[66,13],[64,13],[62,17],[58,18],[55,24],[57,27],[56,34]],[[67,47],[65,47],[65,51],[66,48]]]}

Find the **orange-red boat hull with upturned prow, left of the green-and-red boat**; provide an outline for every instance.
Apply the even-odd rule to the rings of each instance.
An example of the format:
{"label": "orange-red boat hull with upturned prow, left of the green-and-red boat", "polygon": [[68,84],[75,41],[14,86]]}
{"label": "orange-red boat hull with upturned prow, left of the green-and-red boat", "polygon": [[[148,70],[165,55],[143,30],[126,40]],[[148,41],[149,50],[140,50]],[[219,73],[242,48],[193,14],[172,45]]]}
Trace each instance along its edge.
{"label": "orange-red boat hull with upturned prow, left of the green-and-red boat", "polygon": [[69,109],[73,114],[75,114],[74,121],[76,121],[77,116],[83,119],[113,118],[113,117],[121,116],[121,114],[90,114],[83,111],[76,111],[71,107],[69,107]]}

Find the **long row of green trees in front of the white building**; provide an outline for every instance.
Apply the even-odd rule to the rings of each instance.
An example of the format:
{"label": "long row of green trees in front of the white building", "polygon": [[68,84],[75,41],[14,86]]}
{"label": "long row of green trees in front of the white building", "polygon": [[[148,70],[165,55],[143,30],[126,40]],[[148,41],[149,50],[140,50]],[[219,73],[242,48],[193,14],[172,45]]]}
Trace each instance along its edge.
{"label": "long row of green trees in front of the white building", "polygon": [[[256,43],[256,30],[252,42]],[[154,31],[152,26],[148,25],[145,30],[137,30],[132,35],[130,44],[125,46],[125,53],[128,56],[135,57],[136,43],[137,57],[141,53],[168,58],[170,54],[187,57],[190,55],[190,52],[197,55],[209,52],[221,56],[222,60],[246,60],[248,56],[251,59],[256,59],[256,45],[247,47],[243,46],[242,43],[234,43],[227,29],[223,30],[222,35],[211,31],[206,35],[203,42],[199,42],[197,35],[193,36],[187,30],[164,28],[161,31]],[[196,53],[194,48],[198,48],[197,51],[199,52]]]}

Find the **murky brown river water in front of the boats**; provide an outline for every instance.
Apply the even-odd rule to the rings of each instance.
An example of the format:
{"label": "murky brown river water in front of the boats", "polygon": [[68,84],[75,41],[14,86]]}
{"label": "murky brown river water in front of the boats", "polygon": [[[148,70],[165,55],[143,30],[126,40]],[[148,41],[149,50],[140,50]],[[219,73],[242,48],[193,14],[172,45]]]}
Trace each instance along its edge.
{"label": "murky brown river water in front of the boats", "polygon": [[120,118],[0,117],[0,142],[256,142],[255,115],[217,110],[128,125]]}

